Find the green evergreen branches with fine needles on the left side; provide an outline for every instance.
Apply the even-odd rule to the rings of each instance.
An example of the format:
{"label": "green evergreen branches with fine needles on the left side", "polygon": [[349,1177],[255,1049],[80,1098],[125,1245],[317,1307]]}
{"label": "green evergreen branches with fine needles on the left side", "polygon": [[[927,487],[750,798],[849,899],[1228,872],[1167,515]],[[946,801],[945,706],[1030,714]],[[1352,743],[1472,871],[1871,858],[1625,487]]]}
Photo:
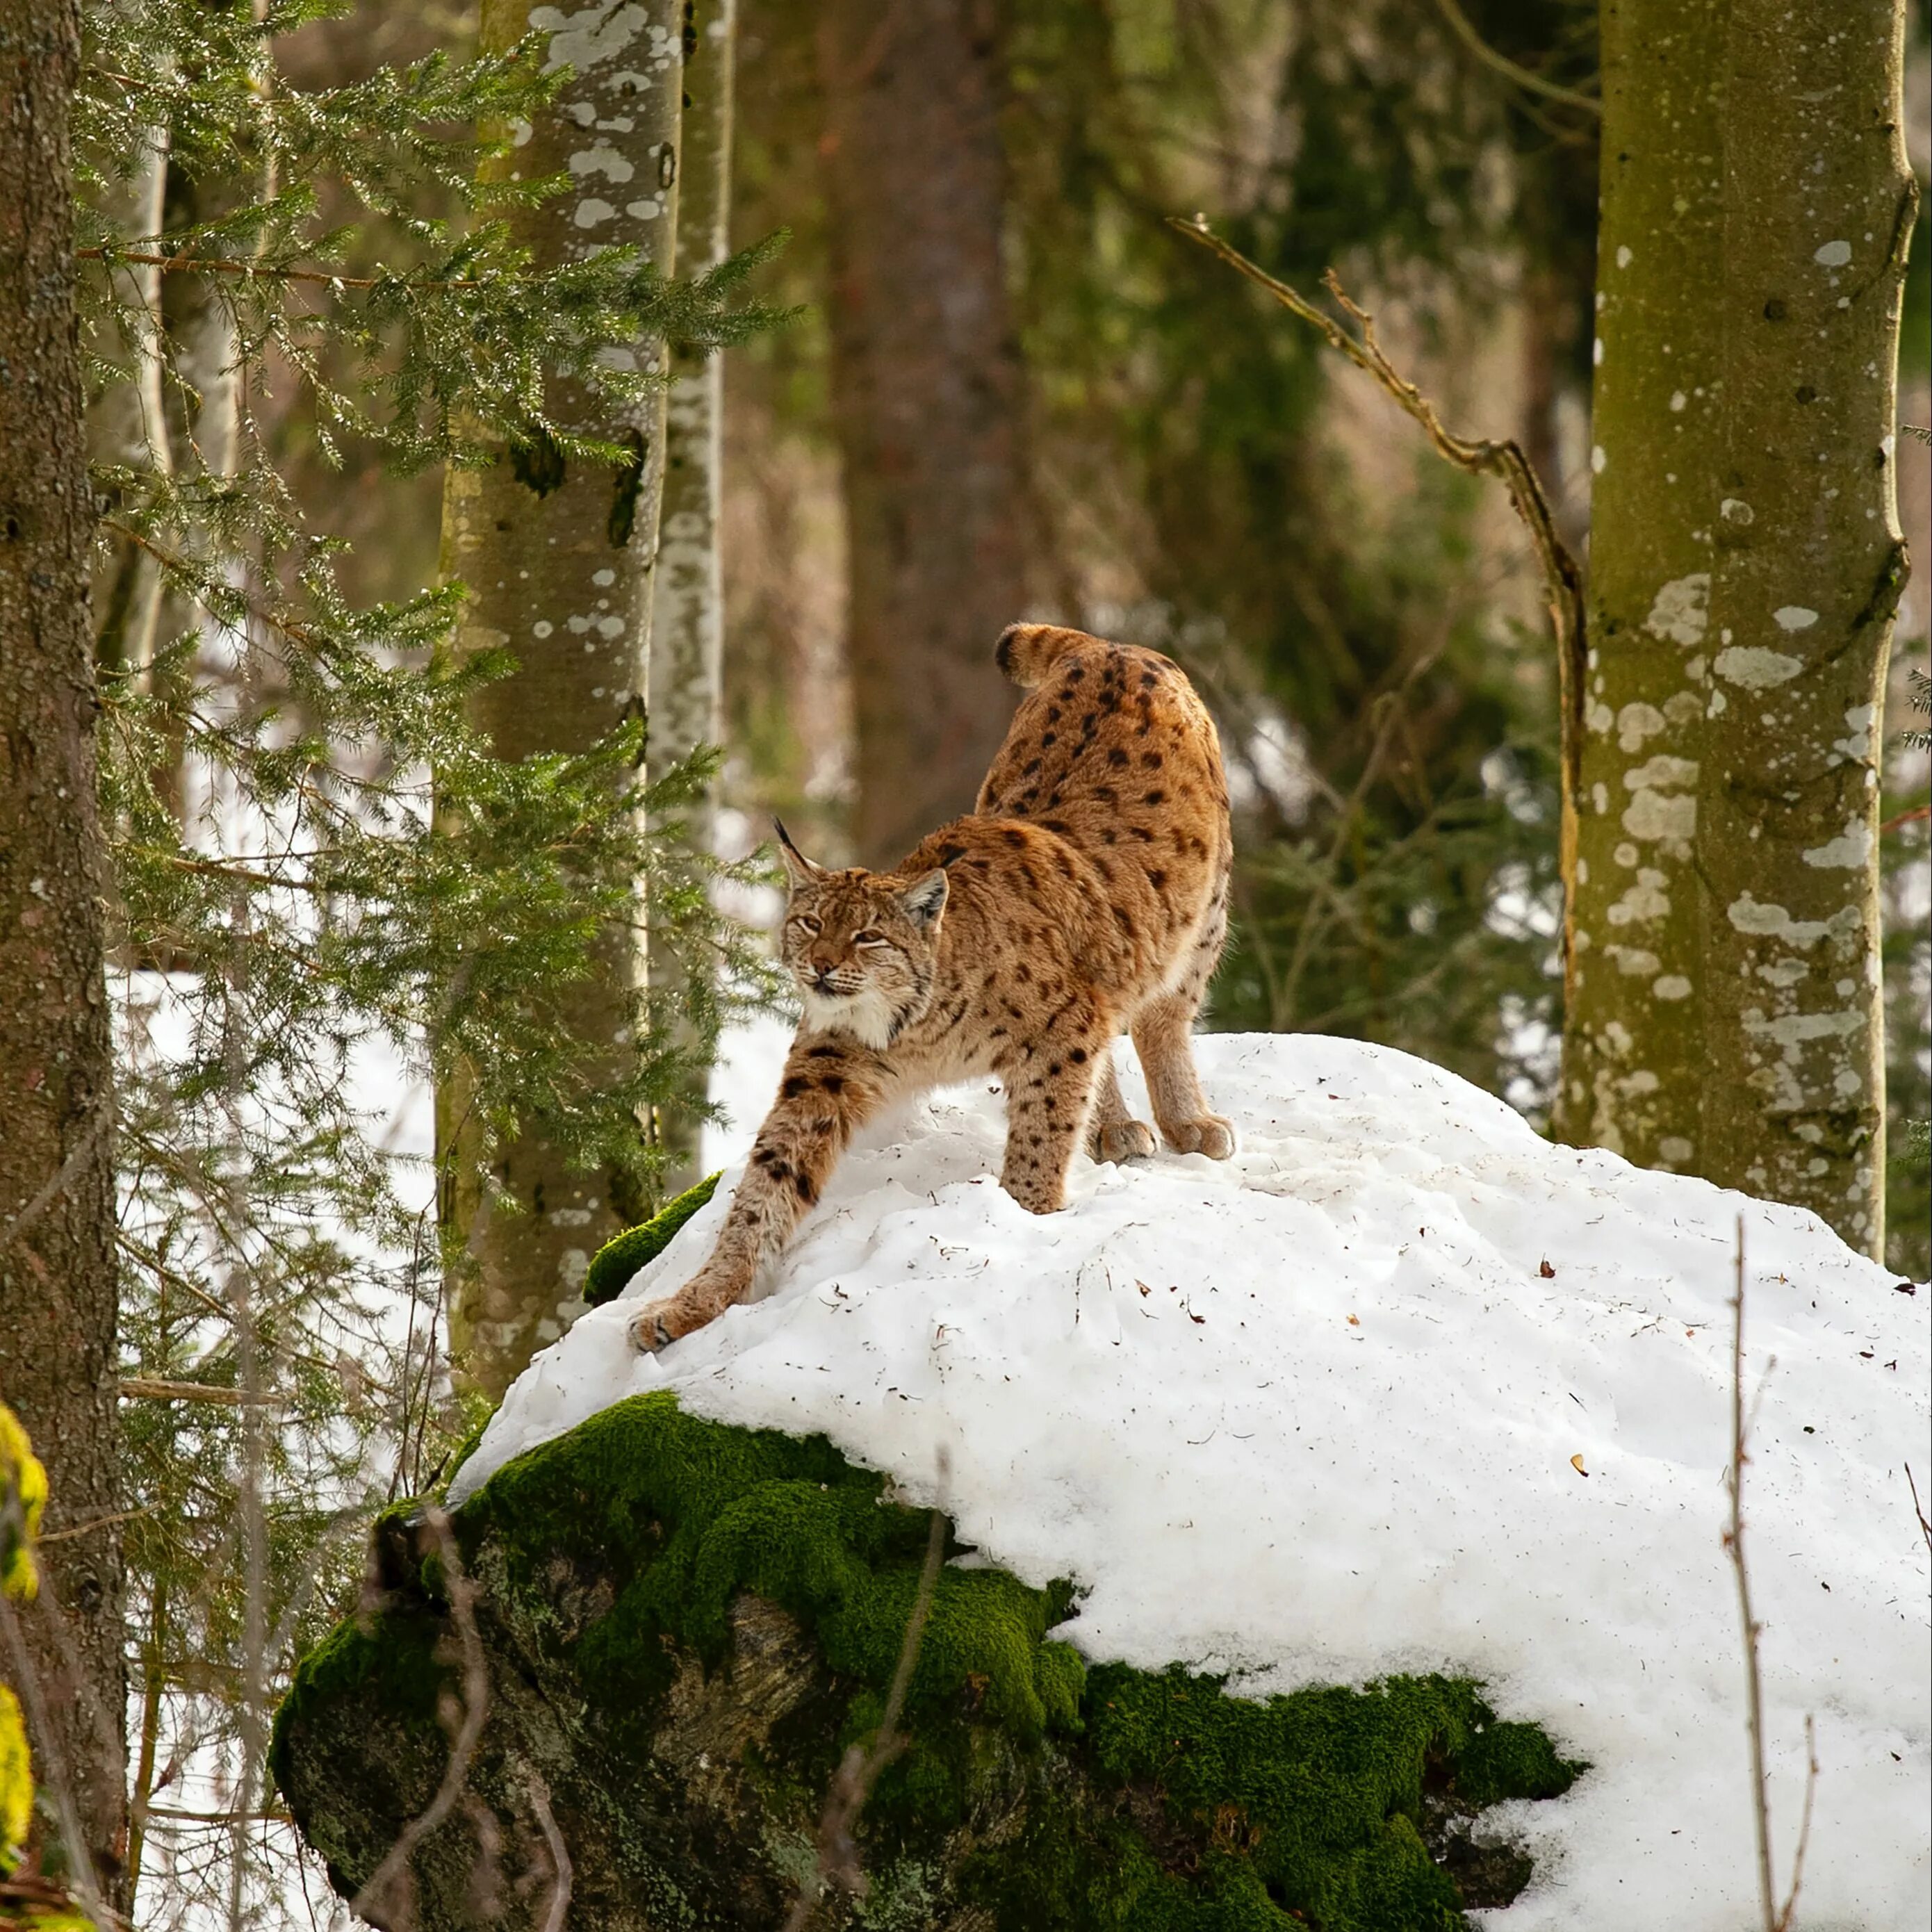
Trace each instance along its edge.
{"label": "green evergreen branches with fine needles on the left side", "polygon": [[75,114],[91,388],[137,421],[95,475],[135,1797],[228,1799],[137,1839],[170,1913],[280,1911],[267,1708],[352,1594],[371,1513],[466,1428],[437,1347],[450,1177],[379,1138],[381,1111],[462,1065],[479,1161],[541,1117],[647,1179],[672,1014],[639,995],[630,1078],[593,1084],[558,991],[645,883],[713,968],[688,976],[688,1051],[759,985],[680,837],[715,753],[645,786],[634,719],[582,755],[493,757],[464,697],[506,659],[456,651],[462,585],[357,605],[290,471],[628,464],[554,423],[547,383],[622,396],[647,379],[612,344],[744,340],[769,249],[686,282],[622,249],[537,272],[498,216],[564,184],[495,162],[558,85],[539,48],[294,85],[290,37],[342,12],[95,0]]}

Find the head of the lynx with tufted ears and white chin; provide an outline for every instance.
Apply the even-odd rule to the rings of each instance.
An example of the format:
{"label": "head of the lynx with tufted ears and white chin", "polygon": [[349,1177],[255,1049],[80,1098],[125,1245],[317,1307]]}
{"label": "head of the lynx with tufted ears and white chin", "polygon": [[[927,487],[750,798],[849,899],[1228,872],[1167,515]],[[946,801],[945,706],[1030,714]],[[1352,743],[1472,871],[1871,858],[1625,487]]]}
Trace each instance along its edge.
{"label": "head of the lynx with tufted ears and white chin", "polygon": [[782,825],[779,852],[792,881],[782,958],[798,980],[806,1032],[844,1032],[883,1053],[931,1005],[945,871],[827,871]]}

